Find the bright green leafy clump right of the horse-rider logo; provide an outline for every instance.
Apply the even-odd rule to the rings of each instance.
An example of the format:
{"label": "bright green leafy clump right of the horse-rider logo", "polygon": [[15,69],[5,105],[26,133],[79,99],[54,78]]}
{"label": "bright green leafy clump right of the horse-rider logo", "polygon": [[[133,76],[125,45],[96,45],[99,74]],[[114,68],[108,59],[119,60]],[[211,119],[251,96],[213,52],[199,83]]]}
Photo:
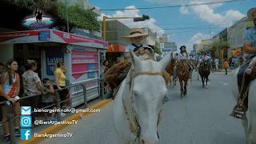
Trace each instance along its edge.
{"label": "bright green leafy clump right of the horse-rider logo", "polygon": [[[70,26],[78,26],[79,28],[86,30],[100,30],[96,14],[91,10],[84,10],[81,6],[76,4],[74,6],[69,6],[67,8],[67,13]],[[66,6],[61,2],[58,3],[58,14],[60,18],[66,20]]]}

